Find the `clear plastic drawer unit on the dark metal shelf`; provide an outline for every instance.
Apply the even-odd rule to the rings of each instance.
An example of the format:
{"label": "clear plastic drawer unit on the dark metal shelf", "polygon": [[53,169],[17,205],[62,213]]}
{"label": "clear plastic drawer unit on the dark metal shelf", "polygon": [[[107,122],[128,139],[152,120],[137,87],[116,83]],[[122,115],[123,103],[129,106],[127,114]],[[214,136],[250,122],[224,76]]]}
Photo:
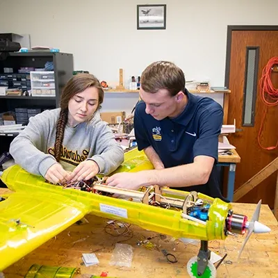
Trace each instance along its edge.
{"label": "clear plastic drawer unit on the dark metal shelf", "polygon": [[32,95],[36,97],[55,97],[54,72],[30,72]]}

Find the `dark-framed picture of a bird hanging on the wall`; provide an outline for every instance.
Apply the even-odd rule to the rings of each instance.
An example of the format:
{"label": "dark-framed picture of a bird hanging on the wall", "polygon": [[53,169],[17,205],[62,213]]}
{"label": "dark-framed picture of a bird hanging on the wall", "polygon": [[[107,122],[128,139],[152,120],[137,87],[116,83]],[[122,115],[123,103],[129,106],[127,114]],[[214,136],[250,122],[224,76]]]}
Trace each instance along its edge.
{"label": "dark-framed picture of a bird hanging on the wall", "polygon": [[166,5],[137,5],[137,29],[154,30],[166,28]]}

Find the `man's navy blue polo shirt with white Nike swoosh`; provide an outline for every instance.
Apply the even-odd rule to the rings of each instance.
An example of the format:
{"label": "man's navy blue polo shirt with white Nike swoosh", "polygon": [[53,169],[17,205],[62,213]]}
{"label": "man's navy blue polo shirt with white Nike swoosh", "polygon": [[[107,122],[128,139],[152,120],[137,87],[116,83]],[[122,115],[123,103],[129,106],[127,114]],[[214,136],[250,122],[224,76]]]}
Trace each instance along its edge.
{"label": "man's navy blue polo shirt with white Nike swoosh", "polygon": [[218,161],[218,136],[223,121],[218,102],[188,92],[184,111],[178,117],[163,120],[154,119],[145,108],[145,102],[140,101],[134,115],[139,150],[152,146],[166,168],[193,163],[195,156],[201,155]]}

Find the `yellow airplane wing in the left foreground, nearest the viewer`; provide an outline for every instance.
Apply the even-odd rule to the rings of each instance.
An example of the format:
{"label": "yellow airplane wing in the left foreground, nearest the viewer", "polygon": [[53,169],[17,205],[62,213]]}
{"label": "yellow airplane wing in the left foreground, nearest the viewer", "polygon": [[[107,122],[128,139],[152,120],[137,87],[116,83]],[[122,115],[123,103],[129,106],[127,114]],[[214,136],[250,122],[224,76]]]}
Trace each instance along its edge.
{"label": "yellow airplane wing in the left foreground, nearest the viewer", "polygon": [[18,190],[0,202],[0,271],[83,218],[86,209],[40,188]]}

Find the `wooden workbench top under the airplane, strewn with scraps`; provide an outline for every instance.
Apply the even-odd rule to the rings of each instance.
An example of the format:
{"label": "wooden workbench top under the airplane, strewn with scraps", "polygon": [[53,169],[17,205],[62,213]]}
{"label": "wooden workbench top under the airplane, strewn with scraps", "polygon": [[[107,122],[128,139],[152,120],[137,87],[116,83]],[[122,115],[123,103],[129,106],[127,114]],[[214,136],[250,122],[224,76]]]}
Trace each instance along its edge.
{"label": "wooden workbench top under the airplane, strewn with scraps", "polygon": [[[0,188],[1,193],[8,191]],[[255,204],[234,204],[236,213],[243,213],[251,218]],[[94,215],[85,217],[88,222],[73,224],[70,228],[58,234],[44,245],[38,247],[30,254],[17,261],[4,271],[6,278],[24,277],[28,268],[34,263],[52,266],[68,266],[81,268],[81,275],[76,277],[88,277],[85,274],[100,275],[108,272],[109,277],[188,277],[186,263],[192,256],[196,256],[199,245],[188,244],[174,240],[170,236],[161,238],[158,234],[132,225],[133,237],[122,241],[133,247],[133,262],[131,268],[115,267],[109,265],[115,243],[125,240],[122,237],[113,237],[104,232],[107,219]],[[278,225],[277,220],[267,205],[261,207],[261,221],[268,225],[272,231],[270,234],[252,235],[247,243],[239,262],[236,262],[238,250],[244,237],[229,237],[227,240],[213,240],[209,247],[213,252],[223,256],[228,254],[224,263],[218,268],[218,277],[278,277]],[[154,237],[150,240],[160,249],[177,256],[177,263],[168,263],[158,250],[147,250],[142,245],[138,246],[137,240]],[[76,242],[79,240],[78,242]],[[76,243],[74,243],[76,242]],[[95,253],[99,259],[99,265],[85,267],[81,265],[82,253]],[[228,261],[228,262],[227,262]],[[231,263],[231,264],[229,264]]]}

